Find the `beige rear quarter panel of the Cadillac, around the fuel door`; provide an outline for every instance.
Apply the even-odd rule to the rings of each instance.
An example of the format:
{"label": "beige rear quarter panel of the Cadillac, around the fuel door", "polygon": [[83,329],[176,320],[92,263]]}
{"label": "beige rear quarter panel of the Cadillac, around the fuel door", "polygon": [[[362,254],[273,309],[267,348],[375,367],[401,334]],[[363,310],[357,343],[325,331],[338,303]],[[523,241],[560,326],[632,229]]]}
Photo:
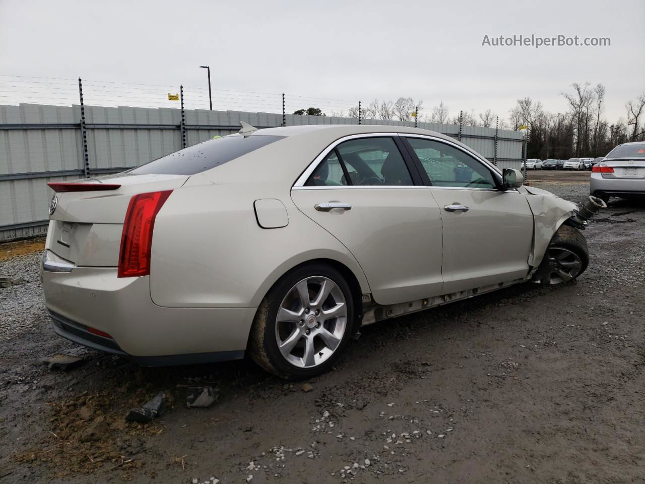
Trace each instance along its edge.
{"label": "beige rear quarter panel of the Cadillac, around the fuel door", "polygon": [[253,202],[276,198],[257,185],[203,185],[175,190],[157,215],[150,292],[165,307],[257,307],[270,287],[300,263],[333,259],[370,292],[352,254],[280,197],[288,225],[261,228]]}

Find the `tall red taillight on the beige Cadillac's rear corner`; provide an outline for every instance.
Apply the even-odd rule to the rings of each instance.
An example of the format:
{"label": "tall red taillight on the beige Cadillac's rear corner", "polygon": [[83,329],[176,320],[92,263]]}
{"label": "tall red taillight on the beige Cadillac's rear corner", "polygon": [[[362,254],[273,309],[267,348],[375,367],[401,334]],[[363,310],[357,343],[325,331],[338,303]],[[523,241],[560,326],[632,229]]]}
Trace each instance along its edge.
{"label": "tall red taillight on the beige Cadillac's rear corner", "polygon": [[171,193],[172,190],[142,193],[130,199],[121,234],[117,274],[119,277],[150,274],[150,250],[155,217]]}

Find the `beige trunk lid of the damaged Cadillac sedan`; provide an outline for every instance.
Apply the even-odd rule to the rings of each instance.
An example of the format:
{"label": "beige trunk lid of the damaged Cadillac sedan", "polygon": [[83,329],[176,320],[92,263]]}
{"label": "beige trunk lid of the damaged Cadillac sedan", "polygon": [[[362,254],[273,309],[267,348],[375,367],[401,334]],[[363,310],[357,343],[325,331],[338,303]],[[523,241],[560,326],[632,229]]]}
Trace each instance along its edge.
{"label": "beige trunk lid of the damaged Cadillac sedan", "polygon": [[[54,187],[62,191],[54,194],[56,203],[52,203],[55,209],[50,215],[45,248],[77,266],[116,267],[123,221],[132,196],[173,190],[186,180],[185,175],[126,173],[79,180],[76,187],[73,183]],[[91,188],[84,189],[84,184]],[[95,189],[100,185],[106,189]]]}

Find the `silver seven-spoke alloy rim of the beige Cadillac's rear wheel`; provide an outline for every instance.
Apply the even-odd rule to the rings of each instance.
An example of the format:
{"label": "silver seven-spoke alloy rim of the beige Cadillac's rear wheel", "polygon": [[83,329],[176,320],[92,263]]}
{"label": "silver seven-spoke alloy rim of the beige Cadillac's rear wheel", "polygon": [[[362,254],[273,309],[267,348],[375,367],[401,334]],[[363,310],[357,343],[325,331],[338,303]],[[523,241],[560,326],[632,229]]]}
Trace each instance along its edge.
{"label": "silver seven-spoke alloy rim of the beige Cadillac's rear wheel", "polygon": [[280,353],[292,365],[321,365],[341,344],[347,303],[341,288],[323,276],[306,277],[284,296],[275,319]]}

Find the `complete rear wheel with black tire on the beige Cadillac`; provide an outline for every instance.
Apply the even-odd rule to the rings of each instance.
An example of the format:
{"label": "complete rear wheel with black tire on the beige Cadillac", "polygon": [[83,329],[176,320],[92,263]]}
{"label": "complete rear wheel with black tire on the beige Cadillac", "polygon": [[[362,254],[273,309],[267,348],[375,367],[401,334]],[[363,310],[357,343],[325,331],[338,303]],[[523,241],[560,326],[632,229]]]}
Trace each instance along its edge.
{"label": "complete rear wheel with black tire on the beige Cadillac", "polygon": [[353,318],[352,291],[340,272],[323,264],[301,266],[281,277],[257,308],[250,355],[281,378],[312,378],[341,356]]}

